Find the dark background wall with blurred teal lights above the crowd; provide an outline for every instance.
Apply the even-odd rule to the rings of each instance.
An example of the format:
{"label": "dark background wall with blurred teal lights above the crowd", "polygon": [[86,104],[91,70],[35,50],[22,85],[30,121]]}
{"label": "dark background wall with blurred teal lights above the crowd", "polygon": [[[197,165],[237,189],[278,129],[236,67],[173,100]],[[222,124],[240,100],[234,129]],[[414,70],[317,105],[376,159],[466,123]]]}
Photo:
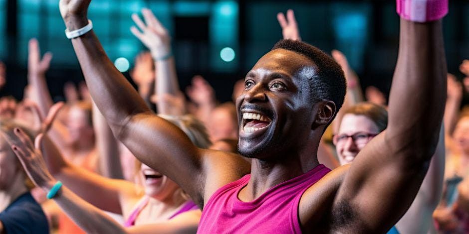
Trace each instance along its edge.
{"label": "dark background wall with blurred teal lights above the crowd", "polygon": [[[110,59],[125,58],[130,69],[135,55],[145,49],[130,33],[130,15],[144,6],[171,32],[183,89],[193,75],[201,74],[219,99],[229,100],[234,82],[281,39],[276,13],[292,8],[304,41],[326,52],[343,51],[363,87],[389,91],[398,50],[395,1],[93,0],[89,18],[94,30]],[[444,31],[448,68],[459,78],[458,66],[469,58],[468,23],[469,1],[452,0]],[[21,98],[31,37],[38,38],[42,52],[54,54],[47,82],[56,100],[62,99],[66,81],[83,79],[64,29],[58,0],[0,0],[0,60],[7,65],[7,85],[1,95]],[[225,47],[234,50],[233,61],[221,59]]]}

